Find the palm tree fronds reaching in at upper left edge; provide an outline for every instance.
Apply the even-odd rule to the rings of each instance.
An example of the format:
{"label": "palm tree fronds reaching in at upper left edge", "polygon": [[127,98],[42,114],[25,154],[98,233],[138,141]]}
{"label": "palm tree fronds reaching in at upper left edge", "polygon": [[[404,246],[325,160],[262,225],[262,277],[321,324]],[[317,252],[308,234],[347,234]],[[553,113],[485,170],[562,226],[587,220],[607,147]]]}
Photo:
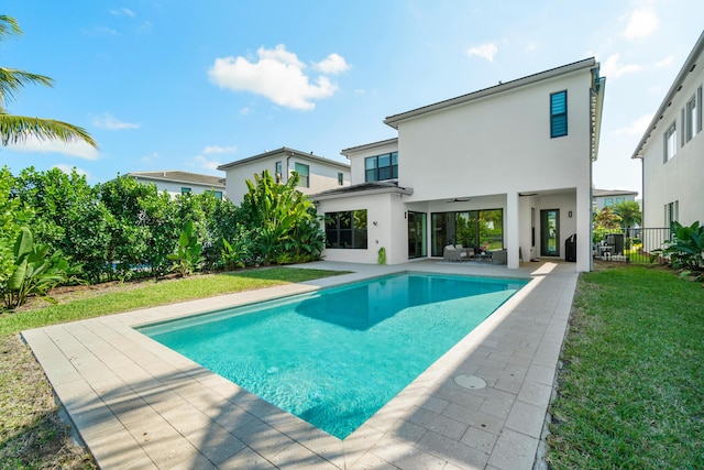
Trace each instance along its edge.
{"label": "palm tree fronds reaching in at upper left edge", "polygon": [[[0,41],[12,35],[22,34],[18,22],[12,17],[0,15]],[[7,105],[14,100],[15,95],[24,85],[44,85],[51,87],[53,79],[43,75],[14,68],[0,67],[0,142],[2,145],[21,143],[28,138],[40,140],[59,140],[72,142],[80,140],[94,147],[96,141],[82,128],[53,119],[30,118],[8,113]]]}

